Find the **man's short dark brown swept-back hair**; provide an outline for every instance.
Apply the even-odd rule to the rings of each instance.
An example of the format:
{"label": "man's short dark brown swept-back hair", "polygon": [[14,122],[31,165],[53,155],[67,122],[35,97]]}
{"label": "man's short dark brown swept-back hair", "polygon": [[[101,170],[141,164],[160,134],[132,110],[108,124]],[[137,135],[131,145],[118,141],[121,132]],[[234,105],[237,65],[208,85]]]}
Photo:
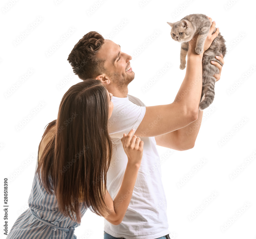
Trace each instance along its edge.
{"label": "man's short dark brown swept-back hair", "polygon": [[95,79],[106,71],[105,59],[97,58],[103,43],[104,38],[100,33],[90,31],[78,41],[70,52],[67,60],[72,66],[74,74],[78,75],[81,80]]}

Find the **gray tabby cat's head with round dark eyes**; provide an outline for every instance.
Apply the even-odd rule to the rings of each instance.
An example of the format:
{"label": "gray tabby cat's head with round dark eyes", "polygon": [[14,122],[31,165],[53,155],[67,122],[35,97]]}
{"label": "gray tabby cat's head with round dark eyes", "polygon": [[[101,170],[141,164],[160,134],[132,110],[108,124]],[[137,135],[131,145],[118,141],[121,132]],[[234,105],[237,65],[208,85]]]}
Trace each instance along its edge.
{"label": "gray tabby cat's head with round dark eyes", "polygon": [[174,23],[167,22],[171,27],[171,37],[178,42],[190,41],[195,33],[191,22],[180,20]]}

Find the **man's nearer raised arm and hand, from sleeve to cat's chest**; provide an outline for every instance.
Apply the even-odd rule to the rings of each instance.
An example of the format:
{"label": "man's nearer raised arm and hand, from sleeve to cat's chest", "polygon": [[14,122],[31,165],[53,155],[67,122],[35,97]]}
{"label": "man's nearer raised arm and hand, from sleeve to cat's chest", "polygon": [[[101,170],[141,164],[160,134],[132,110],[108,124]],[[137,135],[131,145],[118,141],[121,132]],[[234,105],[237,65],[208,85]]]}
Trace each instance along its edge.
{"label": "man's nearer raised arm and hand, from sleeve to cat's chest", "polygon": [[[215,23],[212,25],[215,28]],[[210,47],[218,34],[219,29],[217,28],[214,34],[208,35],[204,51]],[[186,127],[197,120],[202,92],[202,56],[204,51],[200,55],[195,52],[196,40],[197,36],[189,41],[185,78],[173,103],[146,107],[144,118],[134,133],[137,137],[166,134]],[[157,121],[157,124],[154,121]]]}

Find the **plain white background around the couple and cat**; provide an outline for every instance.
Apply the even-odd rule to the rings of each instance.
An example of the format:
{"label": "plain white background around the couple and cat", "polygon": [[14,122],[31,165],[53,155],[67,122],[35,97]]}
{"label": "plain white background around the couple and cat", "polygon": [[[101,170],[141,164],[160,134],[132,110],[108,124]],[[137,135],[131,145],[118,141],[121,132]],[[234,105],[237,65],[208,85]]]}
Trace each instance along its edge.
{"label": "plain white background around the couple and cat", "polygon": [[[129,94],[140,98],[146,106],[169,104],[178,92],[185,70],[179,69],[180,45],[172,40],[166,22],[202,13],[216,21],[230,50],[215,86],[214,102],[204,111],[195,147],[172,152],[157,146],[169,230],[175,235],[172,238],[256,238],[254,1],[24,0],[12,4],[4,0],[0,7],[0,185],[3,187],[7,177],[8,231],[28,208],[44,127],[57,118],[63,94],[81,81],[67,61],[78,40],[89,31],[98,31],[120,44],[122,52],[133,56],[130,62],[135,78],[129,84]],[[26,31],[28,34],[22,39]],[[54,48],[58,41],[61,44]],[[144,43],[146,47],[142,49]],[[50,49],[52,54],[47,55]],[[172,67],[164,70],[167,63]],[[20,81],[30,69],[33,73]],[[160,70],[165,71],[164,75],[143,90]],[[58,87],[61,82],[62,88]],[[228,91],[231,89],[233,92]],[[17,128],[29,115],[29,121]],[[238,167],[243,164],[240,170]],[[196,165],[200,167],[197,171]],[[231,179],[236,170],[237,176]],[[186,179],[189,173],[193,175]],[[179,187],[182,180],[184,183]],[[215,198],[211,198],[213,193]],[[3,196],[1,200],[0,204]],[[246,203],[250,206],[244,209]],[[198,212],[201,206],[203,209]],[[0,225],[4,222],[2,213]],[[231,223],[233,216],[236,220]],[[86,212],[75,234],[78,239],[103,238],[103,218]],[[0,237],[6,237],[2,229]]]}

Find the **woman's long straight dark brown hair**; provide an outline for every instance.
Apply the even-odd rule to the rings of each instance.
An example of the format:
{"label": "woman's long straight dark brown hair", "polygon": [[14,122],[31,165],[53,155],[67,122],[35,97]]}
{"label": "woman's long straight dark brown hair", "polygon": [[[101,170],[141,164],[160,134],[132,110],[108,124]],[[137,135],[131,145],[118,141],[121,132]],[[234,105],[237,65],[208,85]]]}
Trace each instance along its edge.
{"label": "woman's long straight dark brown hair", "polygon": [[106,173],[112,154],[107,130],[109,95],[99,80],[87,79],[73,85],[63,96],[54,137],[48,142],[38,163],[40,181],[50,194],[55,194],[59,210],[81,222],[83,202],[100,216],[108,214],[103,201]]}

